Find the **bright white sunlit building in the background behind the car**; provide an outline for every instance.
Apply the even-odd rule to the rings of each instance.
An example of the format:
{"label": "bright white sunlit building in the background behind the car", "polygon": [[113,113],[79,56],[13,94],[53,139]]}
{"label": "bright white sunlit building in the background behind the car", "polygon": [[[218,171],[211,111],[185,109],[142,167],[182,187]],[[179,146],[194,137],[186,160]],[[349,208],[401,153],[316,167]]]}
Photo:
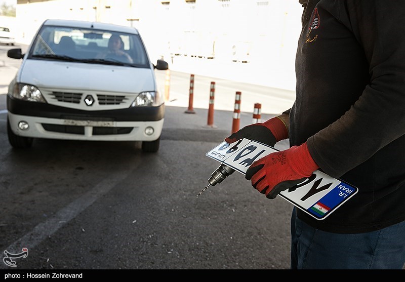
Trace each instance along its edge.
{"label": "bright white sunlit building in the background behind the car", "polygon": [[[177,58],[256,65],[274,82],[295,82],[301,31],[298,0],[16,0],[17,42],[29,44],[48,19],[76,19],[133,26],[155,61]],[[5,17],[3,17],[5,18]],[[10,17],[7,17],[10,18]],[[2,19],[0,19],[1,22]],[[13,23],[13,20],[9,20]],[[179,61],[179,60],[177,60]],[[277,85],[276,85],[277,87]],[[281,88],[286,88],[280,86]]]}

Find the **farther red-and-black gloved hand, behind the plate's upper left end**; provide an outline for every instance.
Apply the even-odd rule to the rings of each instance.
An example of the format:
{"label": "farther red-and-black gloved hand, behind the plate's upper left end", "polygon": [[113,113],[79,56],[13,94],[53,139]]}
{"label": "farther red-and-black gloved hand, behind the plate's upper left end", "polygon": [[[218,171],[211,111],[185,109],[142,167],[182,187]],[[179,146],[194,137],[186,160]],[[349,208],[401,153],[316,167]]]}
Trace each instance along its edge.
{"label": "farther red-and-black gloved hand, behind the plate's upper left end", "polygon": [[278,117],[273,117],[264,123],[246,126],[225,138],[226,143],[233,143],[247,138],[274,147],[275,143],[288,138],[288,129]]}

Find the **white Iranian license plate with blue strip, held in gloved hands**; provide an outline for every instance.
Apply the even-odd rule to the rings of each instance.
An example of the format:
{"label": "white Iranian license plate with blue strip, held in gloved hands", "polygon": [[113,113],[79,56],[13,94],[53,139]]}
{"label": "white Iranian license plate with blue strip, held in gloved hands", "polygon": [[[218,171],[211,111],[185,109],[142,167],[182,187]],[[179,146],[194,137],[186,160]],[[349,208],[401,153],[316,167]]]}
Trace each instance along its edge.
{"label": "white Iranian license plate with blue strip, held in gloved hands", "polygon": [[[232,144],[222,142],[206,155],[245,175],[255,160],[277,151],[273,147],[244,138]],[[317,170],[302,183],[278,195],[315,219],[322,220],[357,191],[356,187]]]}

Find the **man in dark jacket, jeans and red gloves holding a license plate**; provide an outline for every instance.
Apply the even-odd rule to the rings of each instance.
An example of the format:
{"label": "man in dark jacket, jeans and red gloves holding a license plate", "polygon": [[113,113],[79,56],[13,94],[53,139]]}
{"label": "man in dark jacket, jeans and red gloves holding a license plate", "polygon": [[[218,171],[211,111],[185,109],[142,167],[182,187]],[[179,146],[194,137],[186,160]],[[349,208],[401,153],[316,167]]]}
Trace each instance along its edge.
{"label": "man in dark jacket, jeans and red gloves holding a license plate", "polygon": [[324,220],[293,210],[292,269],[402,269],[405,263],[405,1],[309,0],[291,109],[240,129],[270,146],[246,173],[274,198],[319,169],[358,188]]}

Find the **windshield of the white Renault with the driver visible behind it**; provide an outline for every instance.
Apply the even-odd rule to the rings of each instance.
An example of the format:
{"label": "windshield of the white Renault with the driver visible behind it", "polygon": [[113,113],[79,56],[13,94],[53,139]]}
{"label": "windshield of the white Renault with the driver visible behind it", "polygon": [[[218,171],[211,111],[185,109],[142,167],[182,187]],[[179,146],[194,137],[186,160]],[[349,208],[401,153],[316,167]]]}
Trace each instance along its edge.
{"label": "windshield of the white Renault with the driver visible behind it", "polygon": [[149,67],[138,34],[60,26],[42,27],[29,58]]}

